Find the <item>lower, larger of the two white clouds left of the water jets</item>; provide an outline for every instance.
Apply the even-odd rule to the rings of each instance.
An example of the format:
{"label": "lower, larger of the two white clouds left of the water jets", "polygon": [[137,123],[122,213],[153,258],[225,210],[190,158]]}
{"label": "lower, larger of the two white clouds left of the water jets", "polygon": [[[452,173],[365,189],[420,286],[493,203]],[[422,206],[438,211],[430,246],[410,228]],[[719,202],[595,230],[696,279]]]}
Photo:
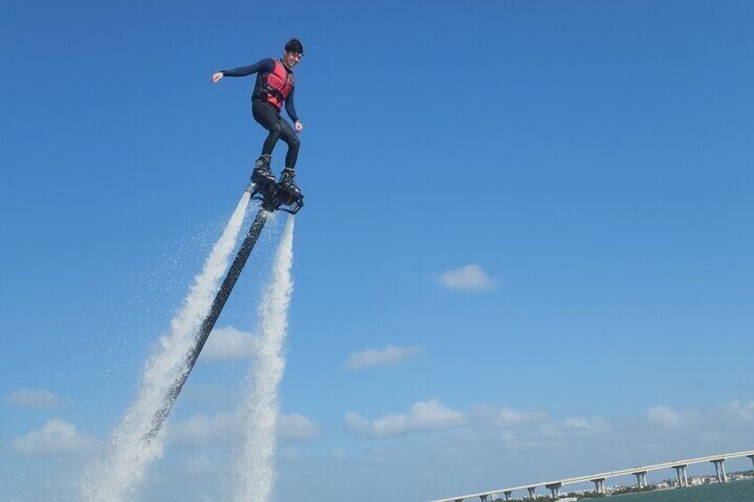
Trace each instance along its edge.
{"label": "lower, larger of the two white clouds left of the water jets", "polygon": [[12,441],[12,448],[24,455],[59,455],[84,450],[92,439],[76,426],[60,418],[52,418],[41,429]]}

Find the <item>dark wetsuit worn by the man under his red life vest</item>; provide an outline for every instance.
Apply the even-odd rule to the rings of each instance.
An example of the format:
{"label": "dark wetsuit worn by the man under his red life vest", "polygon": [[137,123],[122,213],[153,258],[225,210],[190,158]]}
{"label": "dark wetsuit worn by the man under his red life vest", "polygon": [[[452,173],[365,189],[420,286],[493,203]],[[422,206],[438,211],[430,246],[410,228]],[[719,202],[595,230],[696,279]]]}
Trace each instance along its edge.
{"label": "dark wetsuit worn by the man under his red life vest", "polygon": [[[291,69],[286,68],[283,65],[285,71],[293,73]],[[261,124],[262,127],[269,131],[267,139],[264,140],[262,145],[262,155],[272,155],[272,150],[275,148],[277,139],[283,139],[288,145],[288,153],[285,155],[285,167],[293,169],[296,166],[296,160],[299,157],[299,136],[296,131],[293,130],[293,126],[288,123],[285,118],[280,116],[280,112],[277,108],[272,106],[266,100],[266,93],[264,90],[265,82],[267,82],[267,76],[275,69],[275,60],[268,58],[254,63],[248,67],[233,68],[222,70],[223,76],[249,76],[253,73],[257,74],[257,81],[254,85],[254,92],[252,94],[252,114],[254,120]],[[288,97],[285,99],[285,111],[288,112],[288,116],[291,117],[293,122],[298,122],[299,116],[296,114],[296,108],[293,105],[293,95],[295,93],[295,87],[291,89]]]}

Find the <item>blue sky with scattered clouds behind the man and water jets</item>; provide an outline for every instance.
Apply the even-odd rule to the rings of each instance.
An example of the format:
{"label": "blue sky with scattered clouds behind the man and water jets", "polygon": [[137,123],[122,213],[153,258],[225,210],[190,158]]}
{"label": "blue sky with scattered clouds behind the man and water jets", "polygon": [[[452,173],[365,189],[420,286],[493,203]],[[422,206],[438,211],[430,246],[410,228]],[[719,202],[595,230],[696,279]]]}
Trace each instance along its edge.
{"label": "blue sky with scattered clouds behind the man and water jets", "polygon": [[[752,22],[737,1],[4,6],[8,500],[74,493],[132,402],[264,138],[253,77],[210,75],[290,36],[307,206],[281,411],[304,425],[278,500],[750,449]],[[280,227],[218,327],[254,331]],[[237,406],[249,360],[218,357],[179,426]],[[222,499],[217,428],[176,439],[141,499]]]}

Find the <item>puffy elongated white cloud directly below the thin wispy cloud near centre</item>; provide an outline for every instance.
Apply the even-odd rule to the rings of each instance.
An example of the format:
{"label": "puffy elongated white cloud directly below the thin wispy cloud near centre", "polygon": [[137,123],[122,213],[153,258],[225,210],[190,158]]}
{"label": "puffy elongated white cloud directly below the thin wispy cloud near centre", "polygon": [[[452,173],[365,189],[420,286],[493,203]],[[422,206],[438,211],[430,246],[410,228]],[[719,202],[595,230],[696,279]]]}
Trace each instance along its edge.
{"label": "puffy elongated white cloud directly below the thin wispy cloud near centre", "polygon": [[433,399],[427,402],[417,402],[408,413],[388,415],[372,422],[357,413],[349,413],[346,415],[345,423],[351,431],[357,434],[386,437],[459,426],[465,420],[465,413],[451,410]]}

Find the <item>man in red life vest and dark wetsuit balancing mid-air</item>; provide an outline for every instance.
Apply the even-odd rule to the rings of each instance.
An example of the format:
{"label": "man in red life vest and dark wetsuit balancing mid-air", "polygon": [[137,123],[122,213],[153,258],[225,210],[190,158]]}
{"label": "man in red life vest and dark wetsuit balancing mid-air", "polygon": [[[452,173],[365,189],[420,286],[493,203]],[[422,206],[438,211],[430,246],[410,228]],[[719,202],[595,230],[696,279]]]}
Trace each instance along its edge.
{"label": "man in red life vest and dark wetsuit balancing mid-air", "polygon": [[[303,130],[296,108],[293,104],[293,92],[296,78],[293,68],[303,58],[304,49],[297,39],[292,38],[285,44],[283,57],[279,60],[268,58],[254,63],[252,66],[222,70],[212,76],[213,84],[223,76],[248,76],[257,74],[256,84],[252,94],[252,113],[254,120],[269,131],[267,139],[261,148],[261,155],[254,163],[252,182],[275,183],[275,176],[269,171],[272,160],[272,150],[277,139],[283,139],[288,144],[285,155],[285,169],[280,176],[280,186],[293,195],[301,195],[293,178],[296,174],[296,159],[299,156],[299,138],[297,134]],[[285,103],[285,111],[293,120],[293,127],[280,116]]]}

